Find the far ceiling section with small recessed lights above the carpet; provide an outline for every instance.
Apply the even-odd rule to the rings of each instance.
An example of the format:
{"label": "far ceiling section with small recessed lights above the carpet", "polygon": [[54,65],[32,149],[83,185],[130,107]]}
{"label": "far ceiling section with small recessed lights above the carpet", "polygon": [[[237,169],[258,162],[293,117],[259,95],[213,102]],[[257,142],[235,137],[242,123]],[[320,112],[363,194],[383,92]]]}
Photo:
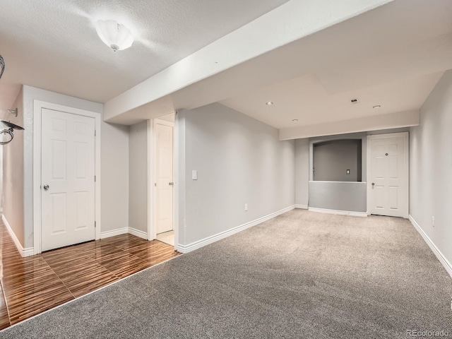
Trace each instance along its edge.
{"label": "far ceiling section with small recessed lights above the carpet", "polygon": [[[442,75],[438,72],[402,78],[334,94],[326,92],[319,78],[308,75],[221,103],[277,129],[325,124],[419,109]],[[355,98],[358,102],[353,104]],[[266,105],[268,101],[273,105]]]}

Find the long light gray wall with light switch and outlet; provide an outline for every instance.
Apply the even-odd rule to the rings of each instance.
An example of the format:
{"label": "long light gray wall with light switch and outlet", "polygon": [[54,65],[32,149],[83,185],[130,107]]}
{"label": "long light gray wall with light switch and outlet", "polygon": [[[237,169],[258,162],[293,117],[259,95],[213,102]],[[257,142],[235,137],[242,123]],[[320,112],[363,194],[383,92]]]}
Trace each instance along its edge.
{"label": "long light gray wall with light switch and outlet", "polygon": [[278,141],[277,129],[212,104],[179,112],[177,133],[179,160],[185,159],[177,182],[179,244],[295,204],[295,142]]}

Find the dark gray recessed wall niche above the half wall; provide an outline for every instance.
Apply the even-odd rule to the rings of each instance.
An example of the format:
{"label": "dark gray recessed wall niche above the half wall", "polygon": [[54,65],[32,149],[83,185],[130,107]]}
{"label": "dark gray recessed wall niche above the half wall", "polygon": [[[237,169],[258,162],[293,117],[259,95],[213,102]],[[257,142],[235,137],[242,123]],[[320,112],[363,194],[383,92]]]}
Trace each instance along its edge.
{"label": "dark gray recessed wall niche above the half wall", "polygon": [[314,143],[313,167],[314,181],[362,182],[362,140]]}

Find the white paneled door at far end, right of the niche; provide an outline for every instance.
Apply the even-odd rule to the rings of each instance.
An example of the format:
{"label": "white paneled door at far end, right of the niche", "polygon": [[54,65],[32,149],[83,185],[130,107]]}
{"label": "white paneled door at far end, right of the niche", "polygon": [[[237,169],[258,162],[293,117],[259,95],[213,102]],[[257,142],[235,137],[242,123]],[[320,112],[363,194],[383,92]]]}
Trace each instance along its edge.
{"label": "white paneled door at far end, right of the niche", "polygon": [[408,133],[370,137],[370,213],[408,218]]}

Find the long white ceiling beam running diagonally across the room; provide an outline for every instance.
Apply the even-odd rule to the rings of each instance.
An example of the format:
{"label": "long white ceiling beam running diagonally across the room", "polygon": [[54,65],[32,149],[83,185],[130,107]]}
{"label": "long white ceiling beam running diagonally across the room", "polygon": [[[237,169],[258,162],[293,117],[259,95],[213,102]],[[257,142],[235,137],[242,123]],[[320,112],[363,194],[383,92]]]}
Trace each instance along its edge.
{"label": "long white ceiling beam running diagonally across the room", "polygon": [[[159,99],[166,98],[166,102],[172,93],[189,85],[391,1],[291,0],[105,102],[104,120],[121,121],[119,116],[143,105],[155,115],[157,107],[152,103],[161,109]],[[175,106],[165,105],[186,108],[184,102]]]}

